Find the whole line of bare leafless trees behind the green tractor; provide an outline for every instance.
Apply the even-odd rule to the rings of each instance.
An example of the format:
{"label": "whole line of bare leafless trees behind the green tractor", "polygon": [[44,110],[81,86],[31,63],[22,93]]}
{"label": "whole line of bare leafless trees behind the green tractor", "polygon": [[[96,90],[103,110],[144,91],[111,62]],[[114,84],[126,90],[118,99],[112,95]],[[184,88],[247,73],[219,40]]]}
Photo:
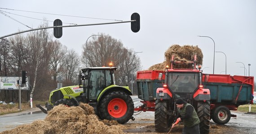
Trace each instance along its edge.
{"label": "whole line of bare leafless trees behind the green tractor", "polygon": [[[43,22],[40,27],[47,27]],[[72,45],[72,44],[70,44]],[[17,34],[0,40],[0,76],[20,76],[25,70],[29,77],[29,91],[22,91],[22,101],[47,100],[49,92],[62,86],[78,84],[81,68],[108,66],[110,62],[118,67],[115,72],[116,84],[131,88],[131,80],[135,80],[136,72],[141,69],[139,57],[134,50],[101,33],[82,45],[82,55],[68,49],[58,40],[54,40],[47,29]],[[133,76],[133,78],[132,78]],[[58,78],[62,78],[59,80]],[[133,88],[136,88],[133,84]],[[135,90],[133,93],[137,93]],[[18,101],[17,90],[0,90],[0,100]]]}

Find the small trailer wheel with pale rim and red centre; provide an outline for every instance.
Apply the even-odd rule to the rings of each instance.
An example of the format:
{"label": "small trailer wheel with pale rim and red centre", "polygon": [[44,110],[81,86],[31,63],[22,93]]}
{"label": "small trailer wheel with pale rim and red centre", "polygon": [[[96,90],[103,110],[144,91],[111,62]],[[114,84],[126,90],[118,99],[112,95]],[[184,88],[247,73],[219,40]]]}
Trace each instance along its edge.
{"label": "small trailer wheel with pale rim and red centre", "polygon": [[218,106],[213,110],[212,120],[217,124],[226,124],[230,121],[230,109],[225,106]]}

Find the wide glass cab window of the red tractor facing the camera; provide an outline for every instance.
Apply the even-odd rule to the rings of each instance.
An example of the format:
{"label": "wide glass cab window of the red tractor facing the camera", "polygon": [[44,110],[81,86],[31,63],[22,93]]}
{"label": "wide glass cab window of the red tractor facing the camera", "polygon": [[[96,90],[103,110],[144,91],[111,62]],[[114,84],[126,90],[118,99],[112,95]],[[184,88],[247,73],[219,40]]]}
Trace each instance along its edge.
{"label": "wide glass cab window of the red tractor facing the camera", "polygon": [[172,92],[194,92],[199,86],[199,74],[169,73],[167,82]]}

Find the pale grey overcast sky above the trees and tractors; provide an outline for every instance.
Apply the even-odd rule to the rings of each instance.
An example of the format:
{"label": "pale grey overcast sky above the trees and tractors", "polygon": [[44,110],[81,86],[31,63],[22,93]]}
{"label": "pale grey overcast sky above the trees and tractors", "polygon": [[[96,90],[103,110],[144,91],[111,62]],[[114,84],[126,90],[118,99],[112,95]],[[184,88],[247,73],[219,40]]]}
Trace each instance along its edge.
{"label": "pale grey overcast sky above the trees and tractors", "polygon": [[[26,16],[6,13],[32,28],[38,28],[42,21],[27,17],[45,18],[48,21],[60,19],[63,25],[82,25],[116,22],[114,20],[130,21],[132,13],[139,13],[141,29],[138,33],[131,31],[130,23],[67,27],[63,28],[59,41],[68,49],[74,49],[81,54],[82,45],[89,36],[109,34],[120,40],[125,47],[136,52],[143,51],[137,53],[143,69],[162,63],[164,52],[173,44],[198,45],[203,52],[203,72],[211,74],[213,39],[215,51],[226,54],[227,74],[244,75],[244,63],[248,75],[250,63],[250,75],[256,75],[256,0],[0,0],[0,10]],[[53,22],[49,22],[49,25],[53,26]],[[27,29],[29,28],[0,14],[0,36]],[[215,74],[225,74],[223,53],[215,53]]]}

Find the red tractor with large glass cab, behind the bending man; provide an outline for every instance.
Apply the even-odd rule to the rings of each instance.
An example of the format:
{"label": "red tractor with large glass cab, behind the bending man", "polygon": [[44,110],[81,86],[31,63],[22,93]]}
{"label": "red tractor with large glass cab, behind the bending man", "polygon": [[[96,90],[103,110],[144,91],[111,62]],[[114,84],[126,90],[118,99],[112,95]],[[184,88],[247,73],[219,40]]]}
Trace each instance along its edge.
{"label": "red tractor with large glass cab, behind the bending man", "polygon": [[163,88],[157,88],[155,101],[155,130],[168,130],[177,115],[175,101],[182,98],[197,111],[200,119],[200,133],[208,134],[210,129],[210,90],[203,88],[202,72],[196,67],[196,55],[192,64],[193,69],[174,69],[175,62],[172,56],[171,68],[165,71]]}

